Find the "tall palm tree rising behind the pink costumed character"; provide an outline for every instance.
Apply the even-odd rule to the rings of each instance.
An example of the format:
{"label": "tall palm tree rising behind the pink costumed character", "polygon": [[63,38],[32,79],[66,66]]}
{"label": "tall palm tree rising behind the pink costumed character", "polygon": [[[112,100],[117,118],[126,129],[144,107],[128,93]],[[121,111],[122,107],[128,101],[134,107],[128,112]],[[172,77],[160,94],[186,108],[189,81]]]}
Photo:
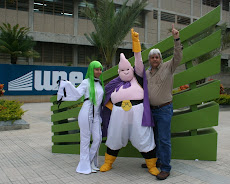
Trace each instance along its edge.
{"label": "tall palm tree rising behind the pink costumed character", "polygon": [[127,3],[128,0],[116,11],[113,1],[110,0],[98,0],[96,8],[86,2],[86,8],[82,11],[95,27],[95,32],[85,34],[85,37],[98,48],[106,68],[111,67],[118,47],[137,22],[147,0],[135,0],[131,6],[127,6]]}

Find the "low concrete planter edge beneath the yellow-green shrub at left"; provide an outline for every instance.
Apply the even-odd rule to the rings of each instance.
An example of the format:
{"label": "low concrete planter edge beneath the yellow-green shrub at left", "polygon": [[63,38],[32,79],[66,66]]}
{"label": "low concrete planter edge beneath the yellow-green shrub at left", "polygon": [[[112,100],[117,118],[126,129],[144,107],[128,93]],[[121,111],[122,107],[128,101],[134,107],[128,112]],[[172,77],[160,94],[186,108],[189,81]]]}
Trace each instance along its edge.
{"label": "low concrete planter edge beneath the yellow-green shrub at left", "polygon": [[30,124],[23,119],[15,120],[14,123],[12,123],[12,121],[0,121],[0,131],[20,130],[29,128]]}

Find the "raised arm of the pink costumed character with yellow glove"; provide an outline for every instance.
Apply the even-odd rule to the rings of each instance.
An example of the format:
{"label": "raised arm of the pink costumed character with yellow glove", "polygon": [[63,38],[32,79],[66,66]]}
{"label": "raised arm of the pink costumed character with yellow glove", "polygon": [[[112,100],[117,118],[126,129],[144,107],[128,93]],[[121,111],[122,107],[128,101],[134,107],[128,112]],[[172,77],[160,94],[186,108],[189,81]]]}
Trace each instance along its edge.
{"label": "raised arm of the pink costumed character with yellow glove", "polygon": [[133,41],[133,52],[135,57],[135,72],[140,77],[143,77],[144,64],[141,57],[141,44],[139,40],[139,33],[131,29],[132,41]]}

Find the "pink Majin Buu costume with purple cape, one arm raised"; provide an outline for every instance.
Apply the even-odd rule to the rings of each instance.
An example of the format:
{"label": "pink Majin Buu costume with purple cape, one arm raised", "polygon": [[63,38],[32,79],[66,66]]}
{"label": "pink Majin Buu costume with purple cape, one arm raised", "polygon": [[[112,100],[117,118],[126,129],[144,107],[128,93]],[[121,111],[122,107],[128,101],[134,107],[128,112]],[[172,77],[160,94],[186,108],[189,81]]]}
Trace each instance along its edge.
{"label": "pink Majin Buu costume with purple cape, one arm raised", "polygon": [[[105,163],[100,171],[105,172],[112,168],[119,150],[130,141],[146,159],[149,172],[159,174],[156,168],[155,141],[153,122],[151,120],[148,101],[147,82],[141,57],[141,48],[138,33],[132,30],[133,51],[135,56],[135,71],[124,54],[120,54],[118,74],[119,77],[109,82],[106,87],[106,99],[103,111],[103,132],[107,133],[107,153]],[[144,88],[145,89],[144,89]],[[106,117],[108,108],[111,116]],[[106,121],[109,121],[106,131]]]}

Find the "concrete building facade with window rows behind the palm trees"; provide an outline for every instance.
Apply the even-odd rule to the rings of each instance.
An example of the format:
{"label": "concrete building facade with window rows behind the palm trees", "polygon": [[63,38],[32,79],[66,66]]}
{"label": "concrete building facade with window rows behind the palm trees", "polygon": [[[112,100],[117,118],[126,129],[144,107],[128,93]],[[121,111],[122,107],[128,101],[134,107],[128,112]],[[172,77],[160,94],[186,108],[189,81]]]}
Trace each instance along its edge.
{"label": "concrete building facade with window rows behind the palm trees", "polygon": [[[94,0],[87,2],[96,5]],[[114,0],[117,7],[123,2]],[[221,22],[230,27],[229,0],[149,0],[135,30],[140,33],[141,43],[149,48],[171,35],[172,23],[183,29],[218,5],[222,9]],[[96,50],[84,36],[94,30],[91,21],[81,14],[84,7],[83,0],[0,0],[0,23],[29,27],[36,41],[34,49],[41,55],[38,59],[19,58],[18,64],[87,66]],[[124,42],[113,64],[120,52],[132,55],[130,34]],[[223,52],[230,66],[229,55],[230,49]],[[10,63],[10,57],[0,53],[0,63]]]}

